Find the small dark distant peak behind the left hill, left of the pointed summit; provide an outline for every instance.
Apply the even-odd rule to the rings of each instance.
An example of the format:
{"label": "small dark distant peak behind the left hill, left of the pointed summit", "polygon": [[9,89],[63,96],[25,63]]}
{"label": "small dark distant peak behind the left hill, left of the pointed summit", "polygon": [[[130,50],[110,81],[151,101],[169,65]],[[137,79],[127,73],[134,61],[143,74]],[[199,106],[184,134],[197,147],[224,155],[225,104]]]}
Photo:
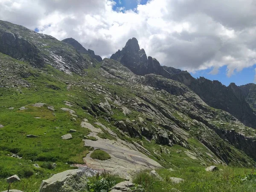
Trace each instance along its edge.
{"label": "small dark distant peak behind the left hill, left of the pointed summit", "polygon": [[99,55],[95,55],[94,51],[91,49],[86,50],[81,44],[79,44],[78,41],[76,41],[73,38],[67,38],[62,40],[62,42],[65,42],[67,44],[72,45],[76,50],[78,50],[80,53],[82,54],[87,54],[87,55],[91,55],[92,58],[95,58],[97,61],[101,62],[102,58]]}

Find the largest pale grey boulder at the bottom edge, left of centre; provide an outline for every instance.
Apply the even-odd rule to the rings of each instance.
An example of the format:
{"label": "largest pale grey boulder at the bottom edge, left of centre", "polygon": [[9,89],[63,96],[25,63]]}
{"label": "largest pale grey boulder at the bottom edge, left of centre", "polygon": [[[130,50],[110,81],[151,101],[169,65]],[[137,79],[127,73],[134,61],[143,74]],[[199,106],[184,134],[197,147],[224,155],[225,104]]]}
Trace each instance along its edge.
{"label": "largest pale grey boulder at the bottom edge, left of centre", "polygon": [[39,192],[82,192],[87,189],[87,177],[95,175],[92,169],[73,169],[43,180]]}

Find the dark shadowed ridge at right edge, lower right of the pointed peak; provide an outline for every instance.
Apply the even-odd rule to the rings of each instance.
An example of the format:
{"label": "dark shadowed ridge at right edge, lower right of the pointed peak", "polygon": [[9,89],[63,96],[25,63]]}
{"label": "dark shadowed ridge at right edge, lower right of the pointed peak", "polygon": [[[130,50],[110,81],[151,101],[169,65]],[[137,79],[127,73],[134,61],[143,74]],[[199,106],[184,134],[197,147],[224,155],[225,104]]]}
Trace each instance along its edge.
{"label": "dark shadowed ridge at right edge, lower right of the pointed peak", "polygon": [[210,81],[203,77],[195,79],[184,72],[172,76],[171,79],[186,84],[209,106],[227,111],[244,125],[256,128],[256,115],[236,84],[231,83],[226,87],[219,81]]}

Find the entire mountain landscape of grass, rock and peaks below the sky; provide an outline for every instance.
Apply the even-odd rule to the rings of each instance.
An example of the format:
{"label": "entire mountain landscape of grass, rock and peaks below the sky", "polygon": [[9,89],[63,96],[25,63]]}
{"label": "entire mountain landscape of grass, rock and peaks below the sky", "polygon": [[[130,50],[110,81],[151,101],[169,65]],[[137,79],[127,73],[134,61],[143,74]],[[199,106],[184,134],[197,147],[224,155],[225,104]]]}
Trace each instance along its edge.
{"label": "entire mountain landscape of grass, rock and peaks below the sky", "polygon": [[136,38],[102,60],[0,21],[0,191],[253,192],[255,103]]}

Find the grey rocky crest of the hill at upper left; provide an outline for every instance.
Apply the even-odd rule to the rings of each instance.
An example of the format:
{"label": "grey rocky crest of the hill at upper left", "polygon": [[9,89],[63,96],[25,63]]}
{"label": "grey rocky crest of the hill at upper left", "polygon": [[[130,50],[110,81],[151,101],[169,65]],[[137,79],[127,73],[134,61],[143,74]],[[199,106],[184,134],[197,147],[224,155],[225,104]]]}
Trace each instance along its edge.
{"label": "grey rocky crest of the hill at upper left", "polygon": [[67,74],[84,74],[90,66],[79,52],[49,35],[39,34],[23,26],[0,20],[0,52],[28,61],[34,67],[50,64]]}

